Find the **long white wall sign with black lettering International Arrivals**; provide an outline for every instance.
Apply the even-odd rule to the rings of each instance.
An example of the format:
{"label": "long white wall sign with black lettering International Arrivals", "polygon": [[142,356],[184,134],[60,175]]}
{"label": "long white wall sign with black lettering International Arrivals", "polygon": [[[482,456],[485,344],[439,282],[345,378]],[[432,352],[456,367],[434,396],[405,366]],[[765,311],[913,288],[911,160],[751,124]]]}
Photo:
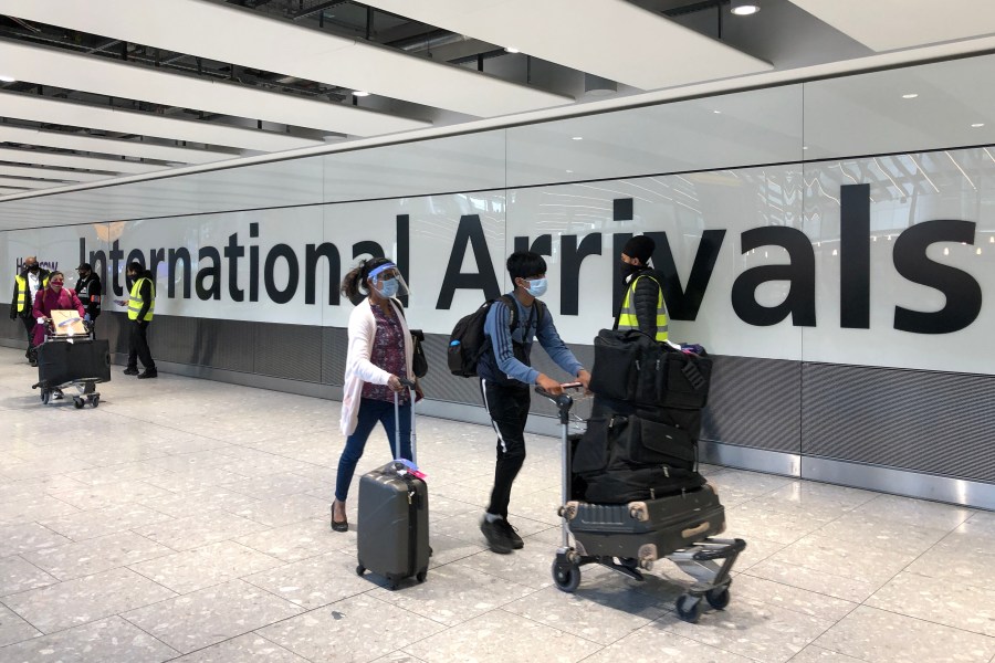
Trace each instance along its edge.
{"label": "long white wall sign with black lettering International Arrivals", "polygon": [[[936,191],[915,201],[915,219],[896,223],[909,201],[847,178],[827,186],[828,168],[820,191],[803,199],[788,189],[803,180],[797,171],[740,170],[731,185],[670,176],[224,212],[114,232],[74,227],[74,238],[44,229],[24,231],[35,240],[7,233],[8,255],[32,241],[57,246],[57,255],[31,253],[92,263],[114,298],[128,287],[125,265],[139,262],[156,275],[158,315],[338,327],[353,308],[342,277],[359,259],[385,255],[411,286],[411,324],[448,334],[511,288],[504,260],[530,249],[546,256],[544,301],[561,335],[590,344],[618,305],[621,246],[648,234],[678,340],[727,355],[995,372],[976,354],[929,352],[951,339],[982,347],[995,332],[984,305],[995,219],[970,218],[971,204]],[[781,182],[776,202],[771,181]],[[626,197],[633,182],[650,193]],[[681,187],[691,194],[678,196]],[[612,215],[619,200],[631,201],[631,218]]]}

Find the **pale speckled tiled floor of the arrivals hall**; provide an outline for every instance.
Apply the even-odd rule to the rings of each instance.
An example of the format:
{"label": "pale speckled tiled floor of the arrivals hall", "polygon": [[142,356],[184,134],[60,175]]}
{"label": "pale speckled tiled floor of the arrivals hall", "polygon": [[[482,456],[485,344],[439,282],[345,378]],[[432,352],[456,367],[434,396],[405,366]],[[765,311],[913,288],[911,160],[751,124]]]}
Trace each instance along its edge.
{"label": "pale speckled tiled floor of the arrivals hall", "polygon": [[[688,624],[669,562],[552,585],[554,439],[512,498],[525,548],[485,550],[493,435],[422,418],[434,556],[391,592],[328,528],[337,403],[118,367],[75,410],[35,376],[0,348],[3,663],[995,661],[992,513],[708,467],[750,547],[730,607]],[[378,434],[360,471],[386,459]]]}

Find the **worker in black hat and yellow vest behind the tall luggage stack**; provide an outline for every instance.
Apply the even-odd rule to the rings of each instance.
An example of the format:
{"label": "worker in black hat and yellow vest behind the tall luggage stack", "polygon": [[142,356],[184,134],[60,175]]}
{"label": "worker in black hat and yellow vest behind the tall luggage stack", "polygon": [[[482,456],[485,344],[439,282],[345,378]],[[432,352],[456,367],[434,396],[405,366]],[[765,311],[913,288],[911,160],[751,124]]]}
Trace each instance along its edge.
{"label": "worker in black hat and yellow vest behind the tall luggage stack", "polygon": [[626,284],[615,328],[639,329],[657,341],[667,340],[667,302],[656,270],[647,263],[657,248],[651,238],[636,235],[626,242],[621,254],[621,277]]}

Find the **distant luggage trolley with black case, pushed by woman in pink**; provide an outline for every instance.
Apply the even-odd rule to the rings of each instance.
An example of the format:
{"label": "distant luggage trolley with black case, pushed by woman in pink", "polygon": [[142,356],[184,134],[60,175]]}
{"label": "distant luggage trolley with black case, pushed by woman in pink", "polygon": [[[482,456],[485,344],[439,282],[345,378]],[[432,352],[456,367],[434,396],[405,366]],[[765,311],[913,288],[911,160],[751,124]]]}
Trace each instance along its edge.
{"label": "distant luggage trolley with black case, pushed by woman in pink", "polygon": [[[82,324],[78,318],[69,322]],[[77,393],[72,399],[77,410],[86,403],[96,408],[101,402],[96,385],[111,381],[109,343],[85,330],[82,335],[60,334],[62,328],[48,324],[45,341],[38,347],[38,382],[31,388],[41,390],[44,404],[61,399],[64,389],[75,388]]]}

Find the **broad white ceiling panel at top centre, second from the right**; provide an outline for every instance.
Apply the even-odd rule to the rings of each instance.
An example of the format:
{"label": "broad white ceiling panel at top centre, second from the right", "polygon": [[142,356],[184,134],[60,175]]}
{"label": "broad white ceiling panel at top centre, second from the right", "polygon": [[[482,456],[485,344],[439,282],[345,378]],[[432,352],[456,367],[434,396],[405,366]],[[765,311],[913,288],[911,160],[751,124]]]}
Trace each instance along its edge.
{"label": "broad white ceiling panel at top centre, second from the right", "polygon": [[625,0],[365,3],[642,90],[773,69]]}

